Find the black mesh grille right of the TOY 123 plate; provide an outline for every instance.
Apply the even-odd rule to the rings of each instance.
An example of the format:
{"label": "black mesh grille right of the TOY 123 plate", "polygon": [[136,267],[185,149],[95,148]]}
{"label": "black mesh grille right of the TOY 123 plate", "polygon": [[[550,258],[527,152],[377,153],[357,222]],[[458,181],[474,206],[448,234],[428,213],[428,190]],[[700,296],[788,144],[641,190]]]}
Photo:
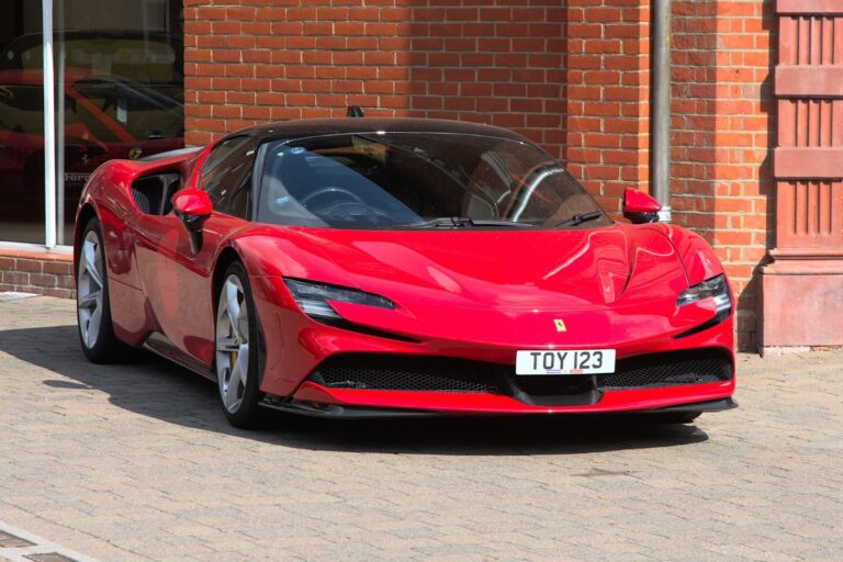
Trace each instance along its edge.
{"label": "black mesh grille right of the TOY 123 plate", "polygon": [[729,381],[732,360],[718,349],[638,356],[618,361],[617,371],[598,376],[599,390],[652,389]]}

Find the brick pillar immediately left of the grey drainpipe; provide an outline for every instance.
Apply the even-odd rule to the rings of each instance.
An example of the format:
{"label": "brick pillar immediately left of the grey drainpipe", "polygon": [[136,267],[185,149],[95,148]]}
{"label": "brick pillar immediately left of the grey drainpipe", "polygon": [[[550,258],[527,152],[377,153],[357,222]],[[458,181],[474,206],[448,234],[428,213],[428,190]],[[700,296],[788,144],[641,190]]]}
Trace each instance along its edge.
{"label": "brick pillar immediately left of the grey drainpipe", "polygon": [[563,159],[607,210],[648,191],[650,2],[572,0]]}

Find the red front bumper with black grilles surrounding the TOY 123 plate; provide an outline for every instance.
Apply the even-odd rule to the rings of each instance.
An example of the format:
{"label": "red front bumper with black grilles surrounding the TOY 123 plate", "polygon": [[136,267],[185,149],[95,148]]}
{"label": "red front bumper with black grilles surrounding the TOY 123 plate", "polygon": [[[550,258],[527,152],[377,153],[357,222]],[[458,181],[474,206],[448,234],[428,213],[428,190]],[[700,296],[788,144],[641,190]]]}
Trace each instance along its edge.
{"label": "red front bumper with black grilles surrounding the TOY 123 plate", "polygon": [[[681,339],[639,329],[637,338],[594,346],[572,344],[567,347],[616,349],[618,371],[591,384],[557,389],[550,387],[553,384],[542,387],[541,381],[533,384],[532,378],[527,382],[515,376],[516,349],[548,347],[518,342],[529,335],[513,334],[513,342],[507,346],[391,338],[389,334],[362,334],[318,324],[296,310],[265,301],[261,291],[257,295],[265,341],[272,342],[266,347],[267,367],[260,385],[268,396],[265,405],[303,414],[350,416],[353,412],[357,417],[370,417],[398,411],[406,415],[631,413],[726,401],[735,387],[731,319]],[[558,347],[562,345],[550,348]],[[358,360],[341,361],[349,356]],[[659,359],[656,356],[676,356],[674,363],[690,364],[693,369],[665,372],[654,382],[650,371],[662,372],[670,362],[652,363],[653,358]],[[726,375],[696,362],[712,357],[716,366],[728,370]],[[437,361],[451,364],[440,366]],[[402,366],[413,366],[415,371],[407,373]],[[361,375],[362,371],[367,372]],[[417,383],[420,371],[424,381]],[[700,373],[707,374],[696,376]],[[450,380],[442,385],[442,379]]]}

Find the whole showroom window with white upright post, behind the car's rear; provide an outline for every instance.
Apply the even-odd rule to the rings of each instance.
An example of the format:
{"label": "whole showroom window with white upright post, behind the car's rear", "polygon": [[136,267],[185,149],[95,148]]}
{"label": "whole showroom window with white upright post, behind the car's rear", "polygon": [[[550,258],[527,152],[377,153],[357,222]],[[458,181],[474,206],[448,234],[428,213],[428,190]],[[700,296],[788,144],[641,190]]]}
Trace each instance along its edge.
{"label": "whole showroom window with white upright post, behind the car's rear", "polygon": [[[79,195],[99,165],[184,146],[182,0],[7,3],[0,19],[0,243],[70,245]],[[45,44],[52,45],[52,77]],[[52,100],[44,86],[50,78]],[[55,108],[55,133],[46,136],[45,99]],[[45,176],[50,162],[53,181]],[[55,224],[47,224],[48,211]]]}

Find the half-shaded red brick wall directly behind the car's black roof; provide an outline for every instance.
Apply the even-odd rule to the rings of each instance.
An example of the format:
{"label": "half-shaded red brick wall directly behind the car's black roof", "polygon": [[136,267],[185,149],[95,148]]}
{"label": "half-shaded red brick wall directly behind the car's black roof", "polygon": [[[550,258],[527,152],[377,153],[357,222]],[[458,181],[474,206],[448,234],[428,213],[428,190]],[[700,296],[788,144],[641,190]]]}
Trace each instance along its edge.
{"label": "half-shaded red brick wall directly behind the car's black roof", "polygon": [[558,0],[186,0],[187,142],[267,120],[487,122],[562,156]]}

